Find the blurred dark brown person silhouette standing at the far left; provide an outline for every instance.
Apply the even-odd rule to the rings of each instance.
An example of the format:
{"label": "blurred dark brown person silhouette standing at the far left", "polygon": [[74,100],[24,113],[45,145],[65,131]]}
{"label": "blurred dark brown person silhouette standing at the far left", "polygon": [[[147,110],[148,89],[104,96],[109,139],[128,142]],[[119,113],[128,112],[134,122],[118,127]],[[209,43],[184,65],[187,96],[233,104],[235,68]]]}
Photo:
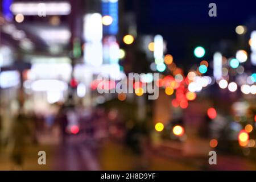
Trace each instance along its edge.
{"label": "blurred dark brown person silhouette standing at the far left", "polygon": [[21,106],[11,129],[11,160],[14,170],[22,170],[27,145],[26,139],[29,135],[28,117],[24,113],[23,106]]}

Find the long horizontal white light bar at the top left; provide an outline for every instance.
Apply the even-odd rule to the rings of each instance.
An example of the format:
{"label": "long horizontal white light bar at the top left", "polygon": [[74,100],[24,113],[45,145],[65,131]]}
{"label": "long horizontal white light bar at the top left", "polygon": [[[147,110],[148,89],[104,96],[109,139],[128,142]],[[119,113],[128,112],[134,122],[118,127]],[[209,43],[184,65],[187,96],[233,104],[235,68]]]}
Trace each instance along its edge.
{"label": "long horizontal white light bar at the top left", "polygon": [[[38,15],[40,11],[39,2],[14,2],[10,9],[14,15]],[[44,2],[46,15],[69,15],[71,5],[69,2]]]}

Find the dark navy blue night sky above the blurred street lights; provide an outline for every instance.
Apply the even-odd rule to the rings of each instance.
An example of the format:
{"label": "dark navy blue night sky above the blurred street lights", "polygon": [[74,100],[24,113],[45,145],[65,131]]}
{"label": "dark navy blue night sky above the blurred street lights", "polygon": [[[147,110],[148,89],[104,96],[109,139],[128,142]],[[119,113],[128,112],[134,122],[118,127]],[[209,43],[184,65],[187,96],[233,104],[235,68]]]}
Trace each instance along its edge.
{"label": "dark navy blue night sky above the blurred street lights", "polygon": [[[211,2],[217,4],[217,17],[208,16]],[[127,3],[135,5],[139,33],[163,35],[168,42],[168,53],[180,63],[192,61],[196,46],[217,51],[212,50],[213,44],[236,40],[236,26],[256,18],[255,0],[136,0],[133,5],[131,1]],[[256,25],[256,20],[254,23]]]}

